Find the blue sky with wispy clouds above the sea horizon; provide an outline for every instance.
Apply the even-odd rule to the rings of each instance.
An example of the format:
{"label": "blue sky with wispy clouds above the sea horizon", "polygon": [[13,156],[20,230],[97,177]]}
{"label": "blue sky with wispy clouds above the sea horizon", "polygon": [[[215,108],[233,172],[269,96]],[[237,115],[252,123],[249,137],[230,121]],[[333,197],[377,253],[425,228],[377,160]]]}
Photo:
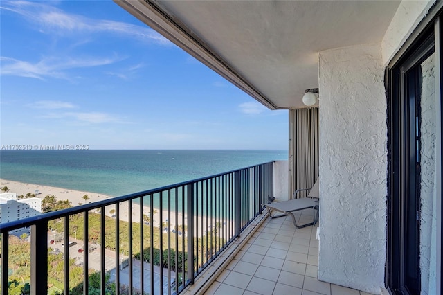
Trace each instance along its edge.
{"label": "blue sky with wispy clouds above the sea horizon", "polygon": [[1,145],[287,149],[270,111],[112,1],[1,1]]}

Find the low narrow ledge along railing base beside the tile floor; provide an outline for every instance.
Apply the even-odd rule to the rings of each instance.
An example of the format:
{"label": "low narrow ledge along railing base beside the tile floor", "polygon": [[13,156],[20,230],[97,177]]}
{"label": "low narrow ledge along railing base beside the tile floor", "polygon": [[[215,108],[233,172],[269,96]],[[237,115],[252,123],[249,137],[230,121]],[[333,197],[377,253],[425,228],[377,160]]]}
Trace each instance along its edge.
{"label": "low narrow ledge along railing base beside the tile floor", "polygon": [[[266,212],[266,213],[265,213]],[[181,294],[185,295],[200,295],[204,294],[206,290],[213,285],[217,277],[221,274],[229,263],[235,258],[237,253],[244,247],[248,240],[253,236],[255,231],[260,228],[262,223],[269,216],[267,211],[263,211],[262,214],[255,217],[253,222],[249,224],[242,233],[240,233],[239,238],[233,241],[224,251],[220,254],[213,262],[211,262],[209,267],[197,276],[193,285],[186,287]]]}

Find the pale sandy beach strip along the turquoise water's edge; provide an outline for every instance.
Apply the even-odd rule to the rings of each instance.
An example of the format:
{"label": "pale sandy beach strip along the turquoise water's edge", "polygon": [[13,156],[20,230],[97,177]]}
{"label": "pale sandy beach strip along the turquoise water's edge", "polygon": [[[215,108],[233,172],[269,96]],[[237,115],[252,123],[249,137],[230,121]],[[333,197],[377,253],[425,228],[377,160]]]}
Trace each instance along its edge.
{"label": "pale sandy beach strip along the turquoise water's edge", "polygon": [[[98,202],[102,201],[103,199],[111,199],[111,197],[107,195],[102,195],[98,193],[91,193],[86,191],[80,191],[80,190],[70,190],[66,188],[57,188],[53,186],[42,186],[39,184],[26,184],[18,181],[10,181],[6,179],[0,179],[0,188],[3,188],[4,186],[8,186],[10,193],[17,193],[17,195],[26,195],[27,193],[33,193],[35,194],[36,191],[39,192],[36,197],[39,197],[41,199],[44,199],[46,195],[55,195],[57,197],[57,201],[60,200],[66,200],[68,199],[71,201],[73,206],[78,206],[80,204],[85,204],[86,202]],[[84,195],[89,196],[89,200],[85,201],[82,199]],[[111,216],[111,210],[115,210],[115,206],[107,206],[105,209],[105,214],[108,216]],[[114,213],[114,212],[113,212]],[[120,204],[120,220],[129,220],[129,208],[128,208],[128,202],[123,202]],[[144,206],[143,208],[143,214],[150,215],[150,208],[147,206]],[[162,213],[162,221],[160,220],[160,212],[159,210],[154,208],[154,222],[152,223],[155,227],[160,227],[162,222],[170,222],[170,228],[174,229],[174,226],[180,226],[183,224],[183,218],[181,213],[178,214],[178,222],[175,220],[175,213],[171,212],[170,217],[168,218],[168,211],[163,210]],[[132,203],[132,222],[139,222],[140,221],[140,206],[138,204]],[[185,224],[188,223],[187,217],[185,215]],[[210,222],[210,221],[209,221]],[[205,229],[210,230],[210,226],[206,226],[206,218],[203,219],[203,226],[204,231]],[[213,222],[213,226],[215,226],[215,222]],[[198,229],[198,235],[201,235],[201,228]]]}

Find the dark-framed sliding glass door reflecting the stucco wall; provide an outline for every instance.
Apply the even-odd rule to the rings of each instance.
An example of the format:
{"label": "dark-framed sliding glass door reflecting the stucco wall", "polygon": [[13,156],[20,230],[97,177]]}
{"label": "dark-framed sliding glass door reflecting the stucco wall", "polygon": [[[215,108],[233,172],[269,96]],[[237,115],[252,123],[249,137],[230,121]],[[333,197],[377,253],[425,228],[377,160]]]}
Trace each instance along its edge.
{"label": "dark-framed sliding glass door reflecting the stucco wall", "polygon": [[[389,71],[388,261],[394,294],[437,294],[440,64],[433,26]],[[438,127],[440,124],[440,127]],[[438,127],[438,128],[437,128]],[[440,204],[440,202],[438,202]]]}

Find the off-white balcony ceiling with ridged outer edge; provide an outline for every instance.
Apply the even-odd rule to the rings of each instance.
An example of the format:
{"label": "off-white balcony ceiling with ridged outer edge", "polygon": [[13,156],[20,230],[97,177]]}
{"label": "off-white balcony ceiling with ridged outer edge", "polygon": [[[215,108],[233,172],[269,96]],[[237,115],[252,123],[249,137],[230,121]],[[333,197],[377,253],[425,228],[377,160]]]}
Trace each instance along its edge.
{"label": "off-white balcony ceiling with ridged outer edge", "polygon": [[400,3],[114,1],[270,109],[305,107],[318,51],[381,42]]}

